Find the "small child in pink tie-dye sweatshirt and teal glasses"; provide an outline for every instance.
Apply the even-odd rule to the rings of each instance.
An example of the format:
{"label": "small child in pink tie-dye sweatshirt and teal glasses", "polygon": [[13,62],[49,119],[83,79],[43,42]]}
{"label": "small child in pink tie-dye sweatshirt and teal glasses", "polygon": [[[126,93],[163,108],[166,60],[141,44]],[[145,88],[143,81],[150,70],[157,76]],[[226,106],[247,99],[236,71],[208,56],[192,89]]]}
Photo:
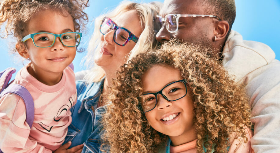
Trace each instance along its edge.
{"label": "small child in pink tie-dye sweatshirt and teal glasses", "polygon": [[0,2],[0,25],[6,24],[6,36],[13,34],[17,42],[13,51],[30,60],[13,84],[26,88],[34,101],[34,116],[28,116],[20,96],[8,93],[0,98],[1,151],[51,153],[64,142],[72,121],[69,110],[77,99],[75,75],[68,65],[87,23],[87,5],[83,0]]}

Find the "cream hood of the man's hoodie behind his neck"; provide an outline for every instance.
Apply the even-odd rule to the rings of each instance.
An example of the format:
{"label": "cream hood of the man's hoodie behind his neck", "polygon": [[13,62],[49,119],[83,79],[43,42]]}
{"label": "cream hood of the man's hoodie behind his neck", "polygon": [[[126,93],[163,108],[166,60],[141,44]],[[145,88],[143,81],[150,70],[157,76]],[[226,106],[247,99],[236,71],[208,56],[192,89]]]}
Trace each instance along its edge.
{"label": "cream hood of the man's hoodie behind his neck", "polygon": [[264,43],[243,40],[242,35],[233,30],[223,48],[223,65],[235,81],[240,81],[248,73],[271,63],[275,58],[273,50]]}

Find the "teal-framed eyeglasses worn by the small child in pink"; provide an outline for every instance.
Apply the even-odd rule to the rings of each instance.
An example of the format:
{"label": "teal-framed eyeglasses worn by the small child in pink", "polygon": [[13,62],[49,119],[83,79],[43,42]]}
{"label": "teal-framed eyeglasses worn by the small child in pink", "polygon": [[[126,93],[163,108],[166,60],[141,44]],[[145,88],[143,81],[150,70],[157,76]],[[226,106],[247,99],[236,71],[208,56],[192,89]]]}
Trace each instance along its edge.
{"label": "teal-framed eyeglasses worn by the small child in pink", "polygon": [[61,43],[67,47],[75,47],[80,44],[82,33],[79,32],[65,32],[62,34],[54,34],[49,32],[32,33],[21,39],[21,42],[25,42],[28,39],[32,39],[36,47],[51,47],[53,46],[55,39],[59,37]]}

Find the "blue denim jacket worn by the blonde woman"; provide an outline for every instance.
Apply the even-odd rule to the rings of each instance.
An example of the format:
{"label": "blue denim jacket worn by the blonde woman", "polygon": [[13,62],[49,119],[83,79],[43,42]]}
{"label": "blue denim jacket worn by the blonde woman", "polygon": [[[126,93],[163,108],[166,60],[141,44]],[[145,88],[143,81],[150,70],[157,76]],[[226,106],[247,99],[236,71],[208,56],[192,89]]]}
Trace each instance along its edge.
{"label": "blue denim jacket worn by the blonde woman", "polygon": [[[99,153],[101,140],[100,125],[105,106],[98,107],[98,100],[104,79],[100,82],[87,84],[84,80],[76,81],[77,103],[71,108],[72,123],[68,126],[64,143],[72,141],[69,148],[84,144],[82,153]],[[98,108],[97,108],[98,107]]]}

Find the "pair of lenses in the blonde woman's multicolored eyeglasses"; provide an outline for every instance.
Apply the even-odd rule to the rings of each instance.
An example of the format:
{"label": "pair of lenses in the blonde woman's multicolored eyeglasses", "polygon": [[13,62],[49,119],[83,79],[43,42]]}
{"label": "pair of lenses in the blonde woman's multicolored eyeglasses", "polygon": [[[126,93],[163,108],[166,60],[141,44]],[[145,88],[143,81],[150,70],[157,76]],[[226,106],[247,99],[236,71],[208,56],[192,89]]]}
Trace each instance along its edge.
{"label": "pair of lenses in the blonde woman's multicolored eyeglasses", "polygon": [[[103,35],[105,35],[106,33],[112,30],[113,26],[114,24],[112,23],[112,21],[105,18],[101,24],[100,32]],[[128,37],[129,37],[129,33],[126,30],[122,29],[121,27],[117,27],[115,29],[114,40],[117,44],[119,45],[125,44]]]}

